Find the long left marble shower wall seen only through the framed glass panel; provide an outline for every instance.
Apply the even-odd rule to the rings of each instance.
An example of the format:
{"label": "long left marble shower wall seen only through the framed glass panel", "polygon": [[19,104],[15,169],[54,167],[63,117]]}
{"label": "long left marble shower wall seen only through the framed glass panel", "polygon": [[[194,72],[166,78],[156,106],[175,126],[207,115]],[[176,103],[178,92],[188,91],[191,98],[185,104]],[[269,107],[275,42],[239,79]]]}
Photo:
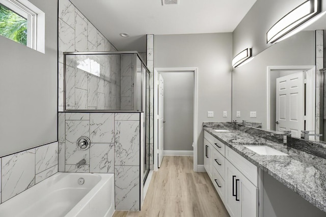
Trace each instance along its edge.
{"label": "long left marble shower wall seen only through the framed glass panel", "polygon": [[77,61],[87,58],[100,64],[100,76],[67,66],[66,109],[120,110],[120,55],[82,55]]}

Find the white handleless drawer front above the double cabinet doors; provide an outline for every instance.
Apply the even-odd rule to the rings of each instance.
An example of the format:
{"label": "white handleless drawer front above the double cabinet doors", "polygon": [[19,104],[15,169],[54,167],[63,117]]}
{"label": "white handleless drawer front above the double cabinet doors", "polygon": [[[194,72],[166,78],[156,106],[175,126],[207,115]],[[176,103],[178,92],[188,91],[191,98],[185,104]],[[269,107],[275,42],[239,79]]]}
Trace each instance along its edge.
{"label": "white handleless drawer front above the double cabinet doors", "polygon": [[257,187],[257,167],[229,147],[225,149],[225,158]]}

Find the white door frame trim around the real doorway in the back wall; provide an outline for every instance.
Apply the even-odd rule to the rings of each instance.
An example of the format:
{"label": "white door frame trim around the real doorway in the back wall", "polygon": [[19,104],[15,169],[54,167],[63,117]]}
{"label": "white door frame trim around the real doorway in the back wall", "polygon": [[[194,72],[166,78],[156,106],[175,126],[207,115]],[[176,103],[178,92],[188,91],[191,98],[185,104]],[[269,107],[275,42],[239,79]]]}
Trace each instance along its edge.
{"label": "white door frame trim around the real doorway in the back wall", "polygon": [[[181,67],[181,68],[154,68],[154,171],[158,170],[157,165],[157,77],[158,73],[164,72],[191,72],[194,73],[194,140],[193,140],[193,148],[194,148],[194,171],[198,171],[198,68],[197,67]],[[155,97],[156,96],[156,97]],[[156,100],[155,100],[156,99]]]}

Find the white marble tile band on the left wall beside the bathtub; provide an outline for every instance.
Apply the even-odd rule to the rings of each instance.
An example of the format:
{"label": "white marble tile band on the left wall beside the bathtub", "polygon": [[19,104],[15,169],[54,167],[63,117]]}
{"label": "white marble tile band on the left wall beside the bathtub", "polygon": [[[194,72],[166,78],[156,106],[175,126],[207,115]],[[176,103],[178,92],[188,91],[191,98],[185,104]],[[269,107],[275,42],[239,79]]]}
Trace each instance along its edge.
{"label": "white marble tile band on the left wall beside the bathtub", "polygon": [[0,203],[58,172],[58,142],[0,158]]}

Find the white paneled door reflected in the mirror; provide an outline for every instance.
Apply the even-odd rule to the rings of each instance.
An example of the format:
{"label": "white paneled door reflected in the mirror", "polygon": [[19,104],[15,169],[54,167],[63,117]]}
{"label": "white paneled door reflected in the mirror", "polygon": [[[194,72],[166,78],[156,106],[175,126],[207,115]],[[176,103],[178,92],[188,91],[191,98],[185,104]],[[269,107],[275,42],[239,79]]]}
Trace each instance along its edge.
{"label": "white paneled door reflected in the mirror", "polygon": [[300,137],[304,130],[304,73],[276,79],[276,130]]}

